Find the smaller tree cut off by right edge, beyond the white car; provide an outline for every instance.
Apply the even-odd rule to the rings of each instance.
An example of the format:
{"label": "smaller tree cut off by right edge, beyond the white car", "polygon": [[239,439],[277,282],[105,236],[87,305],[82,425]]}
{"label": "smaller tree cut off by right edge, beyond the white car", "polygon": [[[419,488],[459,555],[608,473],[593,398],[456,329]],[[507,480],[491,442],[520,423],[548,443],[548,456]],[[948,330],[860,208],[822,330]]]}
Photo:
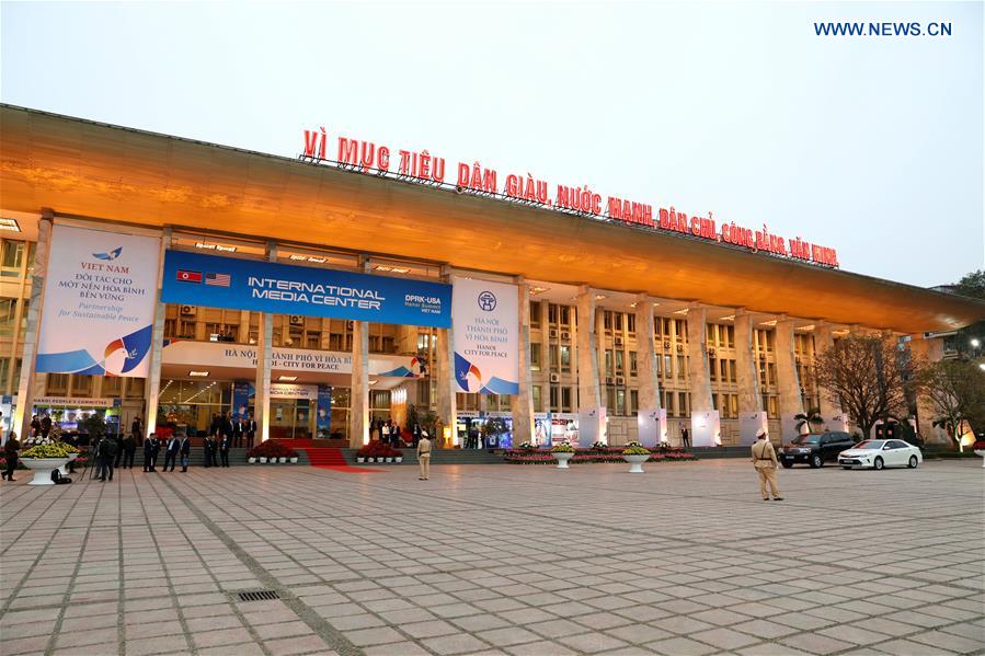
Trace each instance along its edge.
{"label": "smaller tree cut off by right edge, beyond the white car", "polygon": [[941,360],[927,368],[924,389],[934,405],[935,426],[947,431],[959,450],[962,427],[985,428],[985,371],[974,362]]}

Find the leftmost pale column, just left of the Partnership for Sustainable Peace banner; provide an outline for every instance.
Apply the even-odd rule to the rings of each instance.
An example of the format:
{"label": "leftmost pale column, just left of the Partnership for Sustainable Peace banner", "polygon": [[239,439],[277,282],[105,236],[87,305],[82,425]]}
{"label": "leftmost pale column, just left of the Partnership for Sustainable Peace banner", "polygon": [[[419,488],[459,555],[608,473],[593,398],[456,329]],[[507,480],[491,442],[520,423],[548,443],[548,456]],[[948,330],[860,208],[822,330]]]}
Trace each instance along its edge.
{"label": "leftmost pale column, just left of the Partnership for Sustainable Peace banner", "polygon": [[[24,332],[24,352],[21,354],[21,379],[18,381],[18,404],[13,410],[10,428],[19,440],[27,435],[31,411],[34,407],[35,372],[37,365],[37,337],[41,327],[41,308],[45,296],[45,278],[48,275],[48,254],[51,250],[54,214],[45,209],[37,222],[37,246],[34,250],[34,274],[31,277],[31,303],[27,306],[27,327]],[[14,326],[16,330],[16,326]],[[11,361],[11,365],[13,362]],[[7,441],[7,436],[3,436]]]}

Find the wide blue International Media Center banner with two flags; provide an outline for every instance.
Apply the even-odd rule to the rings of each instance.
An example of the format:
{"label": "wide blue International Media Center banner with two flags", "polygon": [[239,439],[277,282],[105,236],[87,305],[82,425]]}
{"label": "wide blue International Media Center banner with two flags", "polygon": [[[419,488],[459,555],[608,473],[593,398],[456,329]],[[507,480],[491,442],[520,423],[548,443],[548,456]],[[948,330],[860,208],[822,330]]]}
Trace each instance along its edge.
{"label": "wide blue International Media Center banner with two flags", "polygon": [[404,325],[451,325],[451,286],[168,251],[161,300],[183,306],[328,317]]}

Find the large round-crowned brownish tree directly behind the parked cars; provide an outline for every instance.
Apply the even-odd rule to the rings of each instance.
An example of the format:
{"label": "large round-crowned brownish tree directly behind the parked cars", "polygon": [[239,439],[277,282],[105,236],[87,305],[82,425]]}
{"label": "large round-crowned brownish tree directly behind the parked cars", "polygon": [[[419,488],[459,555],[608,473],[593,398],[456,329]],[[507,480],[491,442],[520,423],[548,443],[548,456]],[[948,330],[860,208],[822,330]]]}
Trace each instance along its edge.
{"label": "large round-crowned brownish tree directly behind the parked cars", "polygon": [[862,431],[880,419],[904,421],[919,388],[923,362],[890,335],[849,335],[814,358],[814,379]]}

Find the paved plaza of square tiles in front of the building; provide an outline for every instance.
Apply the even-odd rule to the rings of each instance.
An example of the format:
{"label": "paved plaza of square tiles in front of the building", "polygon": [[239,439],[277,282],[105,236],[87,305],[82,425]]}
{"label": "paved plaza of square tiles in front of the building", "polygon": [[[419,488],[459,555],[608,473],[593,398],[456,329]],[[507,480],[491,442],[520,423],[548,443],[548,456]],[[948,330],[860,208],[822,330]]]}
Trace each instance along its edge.
{"label": "paved plaza of square tiles in front of the building", "polygon": [[985,653],[978,460],[626,469],[19,472],[0,653]]}

